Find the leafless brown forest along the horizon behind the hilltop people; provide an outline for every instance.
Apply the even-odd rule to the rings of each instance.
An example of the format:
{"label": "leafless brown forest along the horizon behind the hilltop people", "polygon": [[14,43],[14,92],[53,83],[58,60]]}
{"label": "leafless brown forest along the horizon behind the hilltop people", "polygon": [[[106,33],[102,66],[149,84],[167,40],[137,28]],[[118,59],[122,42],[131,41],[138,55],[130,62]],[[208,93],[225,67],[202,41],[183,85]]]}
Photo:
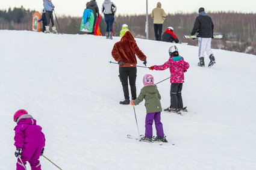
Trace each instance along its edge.
{"label": "leafless brown forest along the horizon behind the hilltop people", "polygon": [[[0,10],[0,29],[31,30],[34,12],[34,10],[26,10],[23,7]],[[213,20],[214,34],[223,34],[221,40],[214,39],[212,41],[214,49],[233,50],[256,55],[256,14],[235,12],[207,14]],[[198,16],[197,13],[168,14],[166,20],[164,20],[163,32],[168,26],[172,26],[174,28],[173,32],[180,41],[196,46],[198,41],[183,38],[183,35],[190,35],[196,16]],[[81,17],[57,16],[58,23],[55,20],[55,26],[59,32],[65,34],[84,34],[84,32],[80,32]],[[128,25],[134,37],[146,38],[145,15],[116,15],[114,20],[115,36],[119,36],[123,23]],[[105,35],[104,18],[101,19],[99,26],[102,35]],[[150,16],[149,39],[155,39],[154,26]]]}

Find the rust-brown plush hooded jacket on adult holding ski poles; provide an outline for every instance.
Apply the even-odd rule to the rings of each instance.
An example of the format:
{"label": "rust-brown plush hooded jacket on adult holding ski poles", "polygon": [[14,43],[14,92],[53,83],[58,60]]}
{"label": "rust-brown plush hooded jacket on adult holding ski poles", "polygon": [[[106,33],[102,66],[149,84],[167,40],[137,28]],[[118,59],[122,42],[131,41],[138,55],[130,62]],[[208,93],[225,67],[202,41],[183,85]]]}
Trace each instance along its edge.
{"label": "rust-brown plush hooded jacket on adult holding ski poles", "polygon": [[145,54],[137,46],[136,40],[134,40],[133,35],[131,35],[130,31],[125,32],[121,40],[114,44],[111,53],[114,60],[116,60],[117,62],[121,60],[123,64],[129,64],[122,65],[120,67],[136,67],[136,55],[141,61],[144,61],[146,59]]}

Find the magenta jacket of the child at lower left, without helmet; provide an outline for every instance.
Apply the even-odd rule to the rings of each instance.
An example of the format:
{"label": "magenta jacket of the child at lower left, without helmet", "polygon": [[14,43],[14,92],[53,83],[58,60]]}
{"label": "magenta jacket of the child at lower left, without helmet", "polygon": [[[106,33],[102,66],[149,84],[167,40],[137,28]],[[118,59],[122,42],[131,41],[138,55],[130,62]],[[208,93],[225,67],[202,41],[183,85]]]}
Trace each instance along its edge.
{"label": "magenta jacket of the child at lower left, without helmet", "polygon": [[36,120],[31,115],[22,115],[17,120],[17,126],[14,130],[16,148],[39,147],[42,149],[45,147],[45,135],[42,132],[42,127],[36,124]]}

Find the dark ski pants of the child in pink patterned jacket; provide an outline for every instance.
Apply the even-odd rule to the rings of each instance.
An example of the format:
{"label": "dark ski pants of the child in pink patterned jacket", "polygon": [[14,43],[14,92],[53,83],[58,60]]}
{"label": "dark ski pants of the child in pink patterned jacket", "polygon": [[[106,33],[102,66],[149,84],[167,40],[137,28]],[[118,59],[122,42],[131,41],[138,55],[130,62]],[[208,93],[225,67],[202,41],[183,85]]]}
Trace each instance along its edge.
{"label": "dark ski pants of the child in pink patterned jacket", "polygon": [[183,108],[183,98],[181,97],[181,90],[183,90],[183,83],[170,84],[170,108]]}

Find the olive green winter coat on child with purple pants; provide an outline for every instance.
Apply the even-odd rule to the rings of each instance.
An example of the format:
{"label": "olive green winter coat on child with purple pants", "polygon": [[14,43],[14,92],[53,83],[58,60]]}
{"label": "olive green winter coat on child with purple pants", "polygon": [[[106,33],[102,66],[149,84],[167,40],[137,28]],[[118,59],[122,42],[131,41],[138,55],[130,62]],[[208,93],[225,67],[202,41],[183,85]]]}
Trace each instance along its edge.
{"label": "olive green winter coat on child with purple pants", "polygon": [[134,105],[138,105],[145,99],[146,113],[161,112],[161,96],[157,90],[156,85],[145,86],[140,90],[140,94],[136,100],[134,100]]}

